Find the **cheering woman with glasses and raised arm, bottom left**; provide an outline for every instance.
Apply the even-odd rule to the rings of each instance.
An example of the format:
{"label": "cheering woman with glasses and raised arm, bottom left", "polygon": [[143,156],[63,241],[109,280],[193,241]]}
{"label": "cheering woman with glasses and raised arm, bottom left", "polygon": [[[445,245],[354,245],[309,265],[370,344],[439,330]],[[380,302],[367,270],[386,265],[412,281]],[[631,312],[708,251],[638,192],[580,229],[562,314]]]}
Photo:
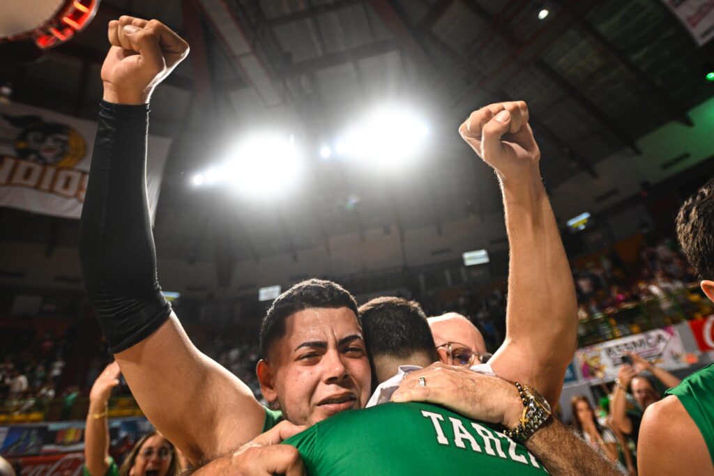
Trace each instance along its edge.
{"label": "cheering woman with glasses and raised arm, bottom left", "polygon": [[111,390],[119,385],[119,365],[113,362],[92,385],[89,393],[84,433],[84,476],[174,476],[174,445],[159,432],[144,435],[136,442],[121,467],[109,455],[107,405]]}

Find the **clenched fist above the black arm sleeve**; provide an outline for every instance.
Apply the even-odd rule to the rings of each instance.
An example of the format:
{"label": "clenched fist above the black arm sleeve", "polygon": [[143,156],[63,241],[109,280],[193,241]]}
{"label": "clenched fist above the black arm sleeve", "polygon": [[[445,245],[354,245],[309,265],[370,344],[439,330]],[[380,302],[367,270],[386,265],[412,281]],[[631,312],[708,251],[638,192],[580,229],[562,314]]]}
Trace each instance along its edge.
{"label": "clenched fist above the black arm sleeve", "polygon": [[142,104],[188,55],[188,43],[158,20],[121,16],[109,22],[111,49],[101,66],[104,101]]}

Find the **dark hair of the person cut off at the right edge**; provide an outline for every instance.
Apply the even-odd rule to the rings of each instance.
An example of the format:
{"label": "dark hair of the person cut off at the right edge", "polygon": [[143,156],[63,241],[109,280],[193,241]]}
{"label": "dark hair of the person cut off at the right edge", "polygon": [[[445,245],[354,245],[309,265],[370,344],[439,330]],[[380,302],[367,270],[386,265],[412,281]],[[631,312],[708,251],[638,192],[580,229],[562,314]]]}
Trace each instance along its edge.
{"label": "dark hair of the person cut off at the right edge", "polygon": [[677,238],[701,279],[714,279],[714,178],[684,202]]}

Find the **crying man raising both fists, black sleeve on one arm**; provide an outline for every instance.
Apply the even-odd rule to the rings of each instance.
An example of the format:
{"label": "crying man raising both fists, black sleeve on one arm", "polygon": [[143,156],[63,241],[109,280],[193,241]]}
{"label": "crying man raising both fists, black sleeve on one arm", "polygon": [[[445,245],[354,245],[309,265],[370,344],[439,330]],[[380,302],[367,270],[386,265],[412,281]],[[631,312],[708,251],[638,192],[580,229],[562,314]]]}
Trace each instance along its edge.
{"label": "crying man raising both fists, black sleeve on one arm", "polygon": [[[80,255],[87,294],[142,410],[196,464],[255,442],[282,418],[309,426],[366,405],[371,373],[356,303],[336,283],[294,286],[263,320],[258,377],[282,413],[259,405],[188,339],[161,294],[145,185],[148,101],[188,44],[159,21],[130,16],[110,22],[109,41]],[[540,181],[528,108],[492,104],[474,112],[461,135],[498,174],[511,245],[506,342],[489,365],[555,402],[575,349],[575,291]],[[281,435],[259,443],[258,453],[273,455],[264,443]],[[266,467],[293,467],[289,451]]]}

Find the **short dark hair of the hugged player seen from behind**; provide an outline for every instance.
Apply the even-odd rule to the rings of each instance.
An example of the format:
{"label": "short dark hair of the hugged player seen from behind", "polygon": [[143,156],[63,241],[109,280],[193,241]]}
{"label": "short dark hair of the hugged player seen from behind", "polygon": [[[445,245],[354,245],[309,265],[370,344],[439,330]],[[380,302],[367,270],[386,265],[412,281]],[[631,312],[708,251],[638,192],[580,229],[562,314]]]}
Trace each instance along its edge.
{"label": "short dark hair of the hugged player seen from behind", "polygon": [[426,314],[416,301],[375,298],[360,306],[359,315],[370,356],[408,358],[417,352],[436,353]]}

